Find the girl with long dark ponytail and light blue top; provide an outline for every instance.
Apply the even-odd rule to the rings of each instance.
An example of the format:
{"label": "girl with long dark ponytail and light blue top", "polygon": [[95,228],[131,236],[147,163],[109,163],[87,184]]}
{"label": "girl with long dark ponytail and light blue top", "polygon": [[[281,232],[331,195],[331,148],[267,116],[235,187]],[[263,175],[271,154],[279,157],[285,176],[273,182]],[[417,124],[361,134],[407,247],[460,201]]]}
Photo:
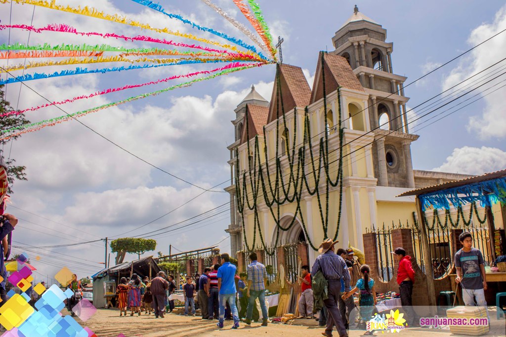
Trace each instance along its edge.
{"label": "girl with long dark ponytail and light blue top", "polygon": [[[374,306],[377,304],[376,290],[374,288],[374,280],[369,277],[369,266],[363,264],[360,267],[360,273],[362,274],[362,278],[357,281],[357,284],[355,284],[355,287],[349,293],[343,295],[343,300],[348,299],[359,290],[358,305],[360,307],[360,316],[362,317],[362,321],[366,322],[371,318]],[[367,331],[364,335],[372,335],[372,331]]]}

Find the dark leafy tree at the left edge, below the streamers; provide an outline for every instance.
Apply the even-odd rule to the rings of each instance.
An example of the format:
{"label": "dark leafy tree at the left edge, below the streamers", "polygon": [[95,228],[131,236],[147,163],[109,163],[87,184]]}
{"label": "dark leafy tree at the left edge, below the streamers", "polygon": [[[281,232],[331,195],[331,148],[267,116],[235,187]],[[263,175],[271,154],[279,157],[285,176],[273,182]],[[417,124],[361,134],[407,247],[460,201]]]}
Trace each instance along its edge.
{"label": "dark leafy tree at the left edge, below the streamers", "polygon": [[[4,85],[0,85],[0,132],[4,132],[10,128],[30,123],[29,120],[24,118],[23,114],[3,116],[4,114],[12,111],[14,111],[14,109],[11,107],[10,103],[5,100]],[[14,141],[18,137],[20,137],[20,135],[13,136],[8,140],[0,140],[0,145],[2,145],[2,148],[4,148],[4,145],[6,143],[9,141]],[[6,149],[8,148],[6,147]],[[2,156],[5,158],[4,153],[2,153]],[[14,184],[15,179],[27,180],[25,173],[26,167],[14,165],[16,161],[11,158],[10,150],[8,157],[5,158],[5,160],[5,164],[7,166],[7,180],[9,181],[8,193],[12,194],[14,193],[12,190],[12,185]]]}

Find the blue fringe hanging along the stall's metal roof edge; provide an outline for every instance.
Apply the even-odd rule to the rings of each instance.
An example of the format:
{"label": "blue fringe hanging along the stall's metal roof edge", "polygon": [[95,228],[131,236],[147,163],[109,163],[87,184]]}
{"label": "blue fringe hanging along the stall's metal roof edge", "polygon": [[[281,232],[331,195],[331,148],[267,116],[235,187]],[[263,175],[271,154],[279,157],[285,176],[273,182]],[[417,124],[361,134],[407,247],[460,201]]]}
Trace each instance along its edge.
{"label": "blue fringe hanging along the stall's metal roof edge", "polygon": [[462,204],[480,202],[481,206],[492,206],[492,203],[506,203],[506,177],[458,186],[418,196],[425,211],[429,207],[447,209],[457,208]]}

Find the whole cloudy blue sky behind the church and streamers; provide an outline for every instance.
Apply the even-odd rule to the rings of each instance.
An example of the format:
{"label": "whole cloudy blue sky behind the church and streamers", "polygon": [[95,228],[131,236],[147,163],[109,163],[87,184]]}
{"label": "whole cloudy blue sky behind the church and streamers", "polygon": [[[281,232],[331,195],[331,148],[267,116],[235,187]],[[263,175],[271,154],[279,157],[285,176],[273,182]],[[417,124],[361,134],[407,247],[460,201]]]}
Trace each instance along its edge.
{"label": "whole cloudy blue sky behind the church and streamers", "polygon": [[[168,27],[212,38],[209,34],[134,2],[58,0],[57,3],[96,6],[106,13],[119,13],[140,22],[148,22],[153,27]],[[161,0],[160,3],[167,11],[251,43],[199,0]],[[215,3],[249,27],[231,1],[215,0]],[[284,38],[284,63],[302,67],[308,79],[314,76],[318,52],[333,50],[331,38],[353,13],[355,5],[355,2],[349,1],[323,0],[297,1],[297,6],[293,6],[296,2],[288,0],[259,0],[259,3],[272,35]],[[168,38],[126,25],[43,8],[35,8],[33,12],[33,7],[27,5],[12,5],[11,16],[10,4],[0,6],[2,24],[30,24],[33,13],[35,27],[66,23],[84,32],[114,32],[131,36],[145,34]],[[391,1],[379,4],[362,1],[358,6],[361,12],[388,30],[387,41],[394,42],[394,72],[407,76],[406,84],[506,29],[506,6],[501,2]],[[26,31],[0,31],[0,43],[26,43],[27,40]],[[153,46],[63,33],[32,33],[29,37],[29,44],[45,42]],[[408,106],[415,107],[477,70],[499,61],[504,57],[500,51],[504,50],[506,33],[407,86],[405,93],[411,98]],[[20,61],[22,63],[24,60],[9,60],[8,64]],[[7,65],[6,60],[0,63]],[[26,83],[54,101],[100,89],[217,67],[216,64],[171,66]],[[96,67],[90,65],[90,68]],[[62,67],[38,68],[37,71],[54,72],[60,69]],[[166,172],[200,187],[218,185],[215,190],[222,190],[228,185],[227,179],[230,177],[226,147],[234,140],[230,123],[235,118],[233,110],[248,93],[251,84],[255,84],[265,98],[270,98],[274,71],[274,65],[244,70],[102,110],[80,120],[118,146]],[[22,71],[16,74],[20,75]],[[5,78],[5,74],[2,76]],[[166,86],[157,84],[125,90],[80,100],[62,108],[67,112],[76,112]],[[434,124],[430,124],[434,121],[431,120],[414,125],[412,131],[420,135],[411,148],[414,167],[472,174],[506,167],[504,93],[504,89],[497,90]],[[19,83],[8,85],[7,98],[14,108],[19,109],[46,103],[26,87],[20,89]],[[421,114],[423,111],[415,109],[415,113]],[[31,121],[39,121],[62,114],[55,108],[46,108],[29,112],[26,117]],[[150,237],[157,240],[158,246],[155,252],[145,255],[158,251],[168,254],[169,245],[173,245],[173,252],[217,243],[220,243],[222,251],[230,250],[224,232],[229,224],[229,213],[226,205],[221,206],[227,202],[226,193],[202,194],[202,189],[153,168],[75,121],[25,134],[3,150],[5,157],[14,158],[18,164],[27,167],[28,181],[15,183],[13,204],[9,211],[22,219],[16,228],[14,240],[16,246],[24,248],[14,251],[25,251],[30,257],[40,257],[38,261],[32,259],[38,268],[36,276],[39,280],[47,275],[51,278],[64,265],[79,277],[91,275],[101,269],[102,265],[98,262],[104,260],[104,243],[101,241],[63,248],[40,248],[44,246],[143,235],[164,228],[150,233],[156,234]],[[206,211],[209,212],[179,223]],[[128,255],[127,259],[134,257]]]}

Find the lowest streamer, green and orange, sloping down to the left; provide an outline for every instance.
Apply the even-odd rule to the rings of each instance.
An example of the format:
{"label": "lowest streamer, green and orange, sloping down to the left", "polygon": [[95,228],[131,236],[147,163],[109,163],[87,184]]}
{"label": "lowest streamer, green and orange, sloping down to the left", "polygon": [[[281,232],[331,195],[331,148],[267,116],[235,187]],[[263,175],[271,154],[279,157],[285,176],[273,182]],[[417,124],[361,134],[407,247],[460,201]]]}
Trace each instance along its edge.
{"label": "lowest streamer, green and orange, sloping down to the left", "polygon": [[[161,89],[161,90],[152,91],[152,92],[144,93],[144,94],[141,94],[141,95],[133,96],[133,97],[130,97],[128,99],[121,100],[121,101],[118,101],[118,102],[104,104],[104,105],[101,105],[101,106],[98,106],[98,107],[95,107],[95,108],[92,108],[92,109],[88,109],[88,110],[84,110],[84,111],[79,111],[79,112],[76,112],[76,113],[73,113],[73,114],[64,115],[64,116],[60,116],[60,117],[56,117],[56,118],[52,118],[52,119],[47,119],[47,120],[40,121],[40,122],[37,122],[37,123],[25,124],[25,125],[13,127],[13,128],[10,128],[10,129],[6,129],[4,131],[0,131],[0,134],[1,134],[0,140],[7,140],[7,139],[9,139],[11,137],[15,137],[15,136],[18,136],[18,135],[21,135],[21,134],[24,134],[24,133],[34,132],[34,131],[40,130],[42,128],[45,128],[47,126],[53,126],[53,125],[62,123],[64,121],[70,120],[72,118],[78,118],[78,117],[85,116],[85,115],[88,115],[88,114],[93,113],[93,112],[97,112],[97,111],[100,111],[100,110],[103,110],[103,109],[107,109],[107,108],[110,108],[110,107],[118,106],[120,104],[137,101],[137,100],[140,100],[140,99],[143,99],[143,98],[146,98],[146,97],[158,95],[160,93],[163,93],[163,92],[166,92],[166,91],[169,91],[169,90],[174,90],[176,88],[189,86],[189,85],[191,85],[193,83],[196,83],[196,82],[199,82],[199,81],[203,81],[203,80],[207,80],[207,79],[212,79],[212,78],[215,78],[215,77],[218,77],[218,76],[221,76],[221,75],[229,74],[229,73],[236,72],[236,71],[243,70],[243,69],[248,69],[248,68],[253,68],[253,67],[261,67],[264,64],[265,63],[256,63],[256,64],[251,64],[251,65],[248,65],[248,66],[244,66],[244,67],[237,67],[237,68],[226,69],[226,70],[223,70],[223,71],[221,71],[219,73],[216,73],[216,74],[212,74],[212,75],[209,75],[209,76],[197,78],[197,79],[194,79],[194,80],[191,80],[191,81],[188,81],[188,82],[185,82],[185,83],[177,84],[177,85],[165,88],[165,89]],[[20,131],[17,131],[17,130],[20,130]]]}

